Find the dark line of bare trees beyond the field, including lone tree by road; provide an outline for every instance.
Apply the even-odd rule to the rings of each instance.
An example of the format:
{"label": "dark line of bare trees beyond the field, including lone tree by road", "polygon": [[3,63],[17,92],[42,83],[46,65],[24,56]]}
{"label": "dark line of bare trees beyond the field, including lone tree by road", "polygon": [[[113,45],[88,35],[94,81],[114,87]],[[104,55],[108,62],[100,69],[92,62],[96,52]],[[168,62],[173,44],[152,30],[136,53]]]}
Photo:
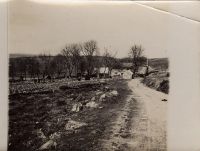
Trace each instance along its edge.
{"label": "dark line of bare trees beyond the field, including lone tree by road", "polygon": [[[139,67],[142,58],[142,47],[134,45],[130,49],[129,58],[134,65],[133,73]],[[144,57],[143,57],[144,58]],[[144,60],[144,59],[143,59]],[[72,78],[82,77],[90,79],[98,76],[98,69],[105,67],[111,71],[122,68],[121,60],[116,58],[112,50],[105,48],[100,56],[97,42],[94,40],[84,43],[68,44],[56,56],[42,54],[34,57],[10,58],[9,77],[14,80],[45,79],[45,78]],[[96,71],[96,72],[94,72]]]}

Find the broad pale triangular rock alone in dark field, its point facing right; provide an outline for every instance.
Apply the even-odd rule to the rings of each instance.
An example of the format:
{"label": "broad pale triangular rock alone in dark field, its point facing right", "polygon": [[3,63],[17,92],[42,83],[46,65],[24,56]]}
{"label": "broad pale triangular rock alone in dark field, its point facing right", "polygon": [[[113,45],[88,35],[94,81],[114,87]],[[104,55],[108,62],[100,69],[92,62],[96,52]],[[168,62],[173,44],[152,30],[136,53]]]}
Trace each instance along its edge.
{"label": "broad pale triangular rock alone in dark field, its point facing right", "polygon": [[67,122],[67,124],[65,125],[65,130],[68,130],[68,131],[73,131],[75,129],[78,129],[78,128],[81,128],[83,126],[86,126],[87,124],[86,123],[83,123],[83,122],[78,122],[78,121],[73,121],[73,120],[69,120]]}

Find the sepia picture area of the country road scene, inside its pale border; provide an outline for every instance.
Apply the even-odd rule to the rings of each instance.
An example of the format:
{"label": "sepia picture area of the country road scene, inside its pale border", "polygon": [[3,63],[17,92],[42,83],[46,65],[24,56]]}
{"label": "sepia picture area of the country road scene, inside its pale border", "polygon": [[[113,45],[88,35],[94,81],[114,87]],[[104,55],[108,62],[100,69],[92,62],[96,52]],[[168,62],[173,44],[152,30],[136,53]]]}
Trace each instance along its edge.
{"label": "sepia picture area of the country road scene, inside its pale border", "polygon": [[169,16],[11,1],[9,151],[167,151]]}

